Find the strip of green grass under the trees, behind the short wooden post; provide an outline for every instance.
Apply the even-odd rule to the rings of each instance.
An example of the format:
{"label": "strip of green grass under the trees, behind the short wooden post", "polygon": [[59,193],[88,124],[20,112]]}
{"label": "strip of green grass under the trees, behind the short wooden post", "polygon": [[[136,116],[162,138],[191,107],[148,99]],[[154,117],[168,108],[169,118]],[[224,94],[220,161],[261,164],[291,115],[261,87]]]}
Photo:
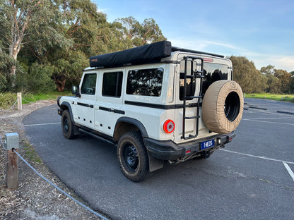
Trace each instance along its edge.
{"label": "strip of green grass under the trees, behind the short wooden post", "polygon": [[[33,94],[33,93],[24,93],[22,94],[22,103],[28,104],[30,102],[37,102],[39,100],[52,100],[57,99],[59,96],[64,95],[71,95],[71,92],[47,92],[47,93],[39,93],[39,94]],[[6,110],[11,108],[13,104],[16,102],[17,95],[13,92],[0,92],[0,109]]]}

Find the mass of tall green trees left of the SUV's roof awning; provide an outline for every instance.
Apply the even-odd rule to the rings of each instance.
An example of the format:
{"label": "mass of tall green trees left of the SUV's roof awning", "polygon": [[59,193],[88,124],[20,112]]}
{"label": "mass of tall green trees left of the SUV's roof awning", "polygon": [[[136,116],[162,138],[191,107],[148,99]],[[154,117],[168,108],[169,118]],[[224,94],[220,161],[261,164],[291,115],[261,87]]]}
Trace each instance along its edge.
{"label": "mass of tall green trees left of the SUV's roof awning", "polygon": [[63,91],[89,56],[165,39],[152,18],[107,23],[90,0],[4,0],[0,8],[0,91],[52,90],[53,82]]}

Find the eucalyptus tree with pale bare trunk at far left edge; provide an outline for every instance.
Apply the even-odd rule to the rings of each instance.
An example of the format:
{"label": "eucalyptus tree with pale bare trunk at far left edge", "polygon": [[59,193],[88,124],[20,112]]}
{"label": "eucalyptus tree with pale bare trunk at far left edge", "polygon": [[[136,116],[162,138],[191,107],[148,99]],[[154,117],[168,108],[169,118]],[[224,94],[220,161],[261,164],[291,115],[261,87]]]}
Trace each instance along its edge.
{"label": "eucalyptus tree with pale bare trunk at far left edge", "polygon": [[16,61],[20,49],[28,43],[28,35],[46,29],[52,21],[56,22],[59,18],[59,4],[58,1],[49,0],[4,0],[0,8],[0,37],[4,50],[15,61],[9,74],[11,86],[15,87]]}

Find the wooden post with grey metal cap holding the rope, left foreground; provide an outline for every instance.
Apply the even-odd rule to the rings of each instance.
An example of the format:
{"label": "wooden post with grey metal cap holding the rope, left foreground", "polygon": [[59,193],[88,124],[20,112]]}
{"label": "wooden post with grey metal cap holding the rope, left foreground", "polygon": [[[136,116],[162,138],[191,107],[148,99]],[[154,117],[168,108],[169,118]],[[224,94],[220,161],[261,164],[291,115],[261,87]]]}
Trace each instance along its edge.
{"label": "wooden post with grey metal cap holding the rope, left foreground", "polygon": [[18,188],[18,156],[14,150],[18,150],[18,133],[5,134],[6,148],[6,185],[8,189]]}

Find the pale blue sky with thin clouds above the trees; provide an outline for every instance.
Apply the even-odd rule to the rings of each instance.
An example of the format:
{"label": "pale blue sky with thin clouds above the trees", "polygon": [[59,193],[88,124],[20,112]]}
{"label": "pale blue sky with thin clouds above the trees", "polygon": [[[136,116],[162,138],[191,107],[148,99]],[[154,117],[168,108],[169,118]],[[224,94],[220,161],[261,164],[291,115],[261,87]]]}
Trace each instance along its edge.
{"label": "pale blue sky with thin clouds above the trees", "polygon": [[92,0],[107,21],[154,18],[172,46],[294,71],[294,0]]}

